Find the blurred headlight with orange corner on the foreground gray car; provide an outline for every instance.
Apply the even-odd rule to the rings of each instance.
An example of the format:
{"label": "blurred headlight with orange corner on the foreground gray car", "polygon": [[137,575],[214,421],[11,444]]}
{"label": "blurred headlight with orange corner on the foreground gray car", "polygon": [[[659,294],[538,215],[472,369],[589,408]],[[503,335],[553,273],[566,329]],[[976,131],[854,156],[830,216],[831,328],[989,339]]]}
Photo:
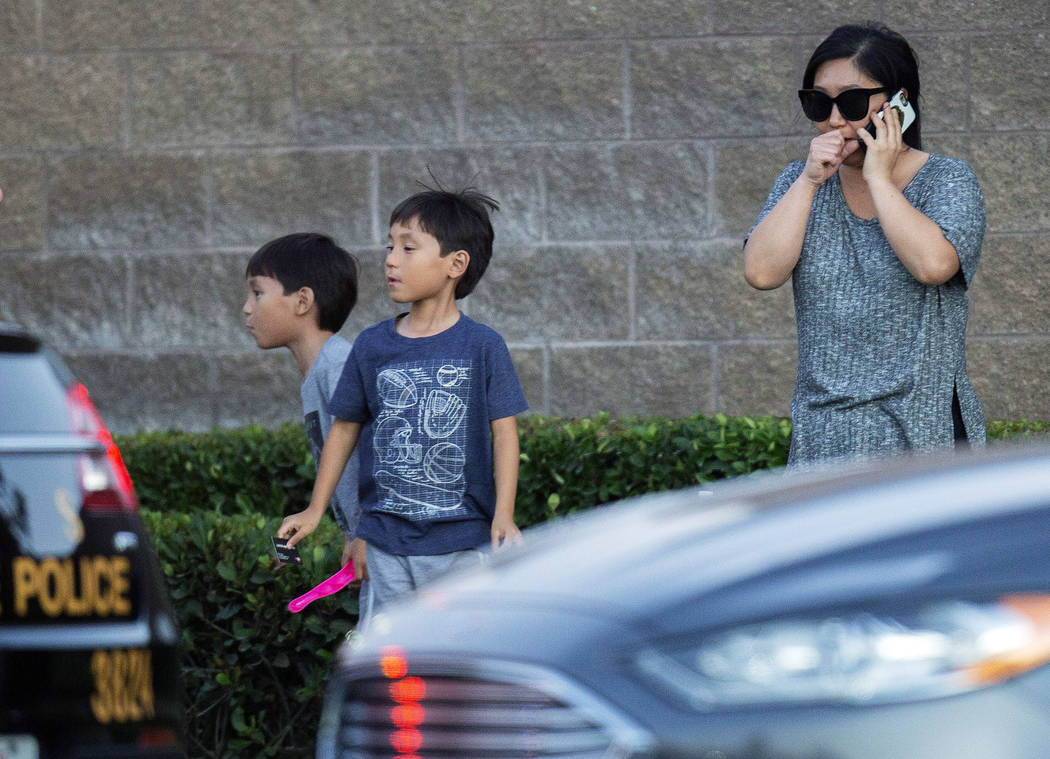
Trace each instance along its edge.
{"label": "blurred headlight with orange corner on the foreground gray car", "polygon": [[639,672],[699,710],[880,703],[965,693],[1050,661],[1050,595],[942,602],[908,614],[778,619],[654,647]]}

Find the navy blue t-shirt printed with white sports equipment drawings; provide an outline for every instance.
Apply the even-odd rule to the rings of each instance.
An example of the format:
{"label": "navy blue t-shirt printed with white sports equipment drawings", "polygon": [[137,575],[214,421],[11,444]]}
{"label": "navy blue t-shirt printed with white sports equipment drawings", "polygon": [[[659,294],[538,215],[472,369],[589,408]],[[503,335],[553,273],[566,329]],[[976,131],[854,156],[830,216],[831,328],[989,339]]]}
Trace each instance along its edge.
{"label": "navy blue t-shirt printed with white sports equipment drawings", "polygon": [[358,336],[329,406],[362,425],[357,535],[400,555],[476,548],[496,511],[489,422],[528,407],[510,353],[462,314],[429,337],[396,323]]}

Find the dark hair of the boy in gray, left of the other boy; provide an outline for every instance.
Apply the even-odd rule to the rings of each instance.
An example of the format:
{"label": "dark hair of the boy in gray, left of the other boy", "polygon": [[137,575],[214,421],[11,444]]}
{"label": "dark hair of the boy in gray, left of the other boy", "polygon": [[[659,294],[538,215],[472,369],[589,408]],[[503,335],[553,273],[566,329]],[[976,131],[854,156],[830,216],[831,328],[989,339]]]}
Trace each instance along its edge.
{"label": "dark hair of the boy in gray, left of the other boy", "polygon": [[272,277],[285,295],[314,291],[317,325],[339,332],[357,303],[357,259],[317,232],[296,232],[259,248],[248,261],[246,277]]}

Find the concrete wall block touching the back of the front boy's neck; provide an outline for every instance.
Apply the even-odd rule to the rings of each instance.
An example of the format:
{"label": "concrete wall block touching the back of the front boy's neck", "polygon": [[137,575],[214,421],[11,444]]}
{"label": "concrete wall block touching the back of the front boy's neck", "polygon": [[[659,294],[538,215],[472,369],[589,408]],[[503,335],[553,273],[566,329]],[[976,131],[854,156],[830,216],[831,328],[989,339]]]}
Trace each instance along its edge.
{"label": "concrete wall block touching the back of the front boy's neck", "polygon": [[492,260],[470,316],[507,340],[625,340],[631,253],[622,247],[513,248]]}

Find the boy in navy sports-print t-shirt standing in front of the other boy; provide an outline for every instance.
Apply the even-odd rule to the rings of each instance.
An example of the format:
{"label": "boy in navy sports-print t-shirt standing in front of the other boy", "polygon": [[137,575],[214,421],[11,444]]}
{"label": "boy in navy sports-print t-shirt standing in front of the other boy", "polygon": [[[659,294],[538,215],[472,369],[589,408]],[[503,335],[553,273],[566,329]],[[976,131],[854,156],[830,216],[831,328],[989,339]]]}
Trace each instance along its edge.
{"label": "boy in navy sports-print t-shirt standing in front of the other boy", "polygon": [[277,531],[292,546],[312,532],[359,449],[361,519],[351,556],[370,578],[375,608],[479,561],[485,544],[521,537],[514,415],[527,404],[503,338],[456,304],[488,266],[488,212],[498,208],[467,189],[427,190],[394,209],[386,284],[408,312],[354,342],[310,505]]}

